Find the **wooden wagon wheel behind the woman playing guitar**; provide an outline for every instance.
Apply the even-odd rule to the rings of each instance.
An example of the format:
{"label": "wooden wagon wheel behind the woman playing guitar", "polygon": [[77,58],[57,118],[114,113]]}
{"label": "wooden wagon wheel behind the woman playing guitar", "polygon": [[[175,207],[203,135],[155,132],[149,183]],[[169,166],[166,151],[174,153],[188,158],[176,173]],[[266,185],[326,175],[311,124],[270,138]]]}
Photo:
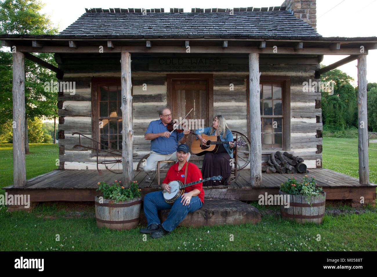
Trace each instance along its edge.
{"label": "wooden wagon wheel behind the woman playing guitar", "polygon": [[[236,156],[233,156],[233,167],[235,164],[237,164],[237,171],[244,169],[249,163],[250,163],[250,141],[244,134],[237,132],[237,131],[231,131],[233,134],[233,138],[237,139],[237,141],[243,141],[245,142],[244,146],[237,146]],[[231,172],[233,173],[233,176],[230,177],[229,182],[236,181],[239,173],[235,173],[235,169],[233,168]],[[237,175],[237,176],[236,176]]]}

